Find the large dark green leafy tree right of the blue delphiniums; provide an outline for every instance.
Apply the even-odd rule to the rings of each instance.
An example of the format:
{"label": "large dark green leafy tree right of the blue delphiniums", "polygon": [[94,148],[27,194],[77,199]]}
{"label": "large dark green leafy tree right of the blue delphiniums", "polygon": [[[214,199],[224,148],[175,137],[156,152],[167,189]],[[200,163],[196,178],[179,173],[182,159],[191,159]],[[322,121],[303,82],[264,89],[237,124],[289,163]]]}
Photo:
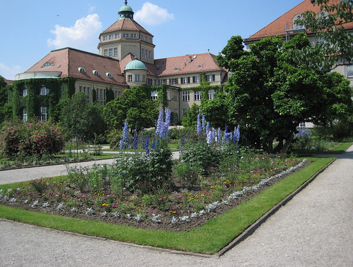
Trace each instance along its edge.
{"label": "large dark green leafy tree right of the blue delphiniums", "polygon": [[[311,68],[309,58],[293,57],[308,46],[307,37],[298,34],[288,43],[267,38],[250,51],[222,56],[233,72],[225,87],[228,121],[241,124],[250,144],[268,152],[285,150],[300,122],[325,123],[350,110],[350,86],[341,75],[327,75]],[[320,52],[312,51],[312,61]]]}

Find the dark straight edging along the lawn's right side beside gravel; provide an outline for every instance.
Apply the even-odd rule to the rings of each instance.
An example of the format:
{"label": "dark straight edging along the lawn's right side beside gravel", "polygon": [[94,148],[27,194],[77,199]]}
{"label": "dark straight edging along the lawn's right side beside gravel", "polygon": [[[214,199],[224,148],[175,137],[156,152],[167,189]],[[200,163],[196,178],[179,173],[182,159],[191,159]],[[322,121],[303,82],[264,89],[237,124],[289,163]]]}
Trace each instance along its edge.
{"label": "dark straight edging along the lawn's right side beside gravel", "polygon": [[321,168],[321,170],[319,170],[318,172],[316,172],[310,179],[308,179],[307,181],[305,181],[304,184],[302,184],[299,188],[297,188],[294,192],[292,192],[290,195],[288,195],[288,197],[286,197],[285,199],[283,199],[281,202],[279,202],[279,204],[276,204],[276,206],[274,206],[271,210],[269,210],[268,212],[265,213],[265,215],[263,215],[261,218],[259,218],[257,221],[254,222],[254,224],[252,224],[251,226],[249,226],[248,229],[246,229],[241,235],[239,235],[238,237],[236,237],[232,242],[230,242],[230,244],[228,244],[228,246],[225,246],[224,248],[222,248],[221,250],[219,250],[218,253],[214,254],[214,256],[216,257],[221,257],[223,256],[225,253],[227,253],[229,250],[231,250],[232,248],[234,248],[234,246],[236,246],[237,244],[239,244],[241,241],[245,240],[247,237],[249,237],[250,235],[252,235],[252,233],[255,232],[255,230],[257,228],[259,228],[259,226],[261,226],[261,224],[263,224],[268,218],[270,218],[272,215],[274,215],[274,213],[276,213],[277,210],[279,210],[279,208],[281,208],[281,206],[284,206],[285,204],[288,203],[288,201],[290,201],[295,195],[297,195],[299,192],[301,192],[301,190],[303,190],[305,187],[307,187],[308,184],[310,184],[312,181],[314,181],[314,179],[316,179],[316,177],[318,177],[321,172],[323,172],[324,170],[326,170],[329,166],[331,166],[334,161],[336,161],[336,159],[333,159],[329,164],[327,164],[325,167]]}

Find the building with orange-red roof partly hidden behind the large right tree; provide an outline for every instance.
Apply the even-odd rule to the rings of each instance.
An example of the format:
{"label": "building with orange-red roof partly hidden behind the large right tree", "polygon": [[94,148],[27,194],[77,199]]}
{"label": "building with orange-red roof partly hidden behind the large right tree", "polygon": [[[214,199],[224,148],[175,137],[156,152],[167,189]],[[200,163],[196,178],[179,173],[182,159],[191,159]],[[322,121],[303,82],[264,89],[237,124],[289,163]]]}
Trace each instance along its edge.
{"label": "building with orange-red roof partly hidden behind the large right tree", "polygon": [[[332,2],[341,1],[341,0],[330,0]],[[280,35],[283,40],[289,41],[295,34],[300,32],[305,32],[307,37],[310,39],[312,45],[314,46],[316,42],[320,41],[315,33],[308,32],[304,26],[300,26],[295,23],[297,19],[301,18],[301,14],[305,11],[314,11],[317,16],[325,16],[325,12],[320,10],[320,7],[314,5],[315,1],[313,0],[304,0],[295,6],[288,12],[285,12],[281,17],[272,21],[268,26],[265,26],[258,32],[252,34],[249,38],[245,39],[245,45],[247,49],[250,48],[250,44],[256,41],[259,41],[266,37],[276,37]],[[353,34],[353,22],[346,23],[344,25],[345,30],[352,32]],[[341,73],[347,79],[350,79],[350,83],[353,86],[353,65],[351,66],[337,66],[335,68],[336,72]]]}

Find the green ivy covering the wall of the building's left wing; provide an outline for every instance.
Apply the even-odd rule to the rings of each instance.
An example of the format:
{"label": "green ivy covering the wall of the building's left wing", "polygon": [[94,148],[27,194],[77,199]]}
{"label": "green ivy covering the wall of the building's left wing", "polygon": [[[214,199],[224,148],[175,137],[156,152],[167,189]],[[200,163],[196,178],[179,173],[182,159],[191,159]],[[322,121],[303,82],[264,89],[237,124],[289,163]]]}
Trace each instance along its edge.
{"label": "green ivy covering the wall of the building's left wing", "polygon": [[[73,78],[60,79],[26,79],[14,81],[11,85],[12,94],[12,119],[22,118],[23,108],[27,110],[28,121],[37,121],[40,115],[40,107],[48,107],[48,115],[57,114],[59,101],[74,95]],[[41,88],[50,90],[48,95],[40,95]],[[23,90],[27,89],[27,96],[23,97]]]}

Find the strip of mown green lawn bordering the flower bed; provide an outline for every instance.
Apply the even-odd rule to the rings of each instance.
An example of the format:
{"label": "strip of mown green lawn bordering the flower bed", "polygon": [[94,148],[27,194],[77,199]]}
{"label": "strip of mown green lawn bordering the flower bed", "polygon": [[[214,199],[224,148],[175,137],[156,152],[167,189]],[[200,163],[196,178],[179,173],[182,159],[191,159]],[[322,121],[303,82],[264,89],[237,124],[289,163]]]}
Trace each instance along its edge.
{"label": "strip of mown green lawn bordering the flower bed", "polygon": [[[140,245],[171,248],[194,253],[213,254],[227,246],[236,236],[251,226],[254,221],[290,195],[301,184],[334,158],[310,158],[312,164],[274,184],[249,201],[228,210],[194,230],[173,233],[165,230],[144,230],[132,226],[108,224],[101,221],[73,219],[32,212],[20,208],[0,205],[0,217],[22,221],[28,224],[67,230],[83,235],[99,236],[113,240],[127,241]],[[6,189],[19,184],[0,186]]]}

